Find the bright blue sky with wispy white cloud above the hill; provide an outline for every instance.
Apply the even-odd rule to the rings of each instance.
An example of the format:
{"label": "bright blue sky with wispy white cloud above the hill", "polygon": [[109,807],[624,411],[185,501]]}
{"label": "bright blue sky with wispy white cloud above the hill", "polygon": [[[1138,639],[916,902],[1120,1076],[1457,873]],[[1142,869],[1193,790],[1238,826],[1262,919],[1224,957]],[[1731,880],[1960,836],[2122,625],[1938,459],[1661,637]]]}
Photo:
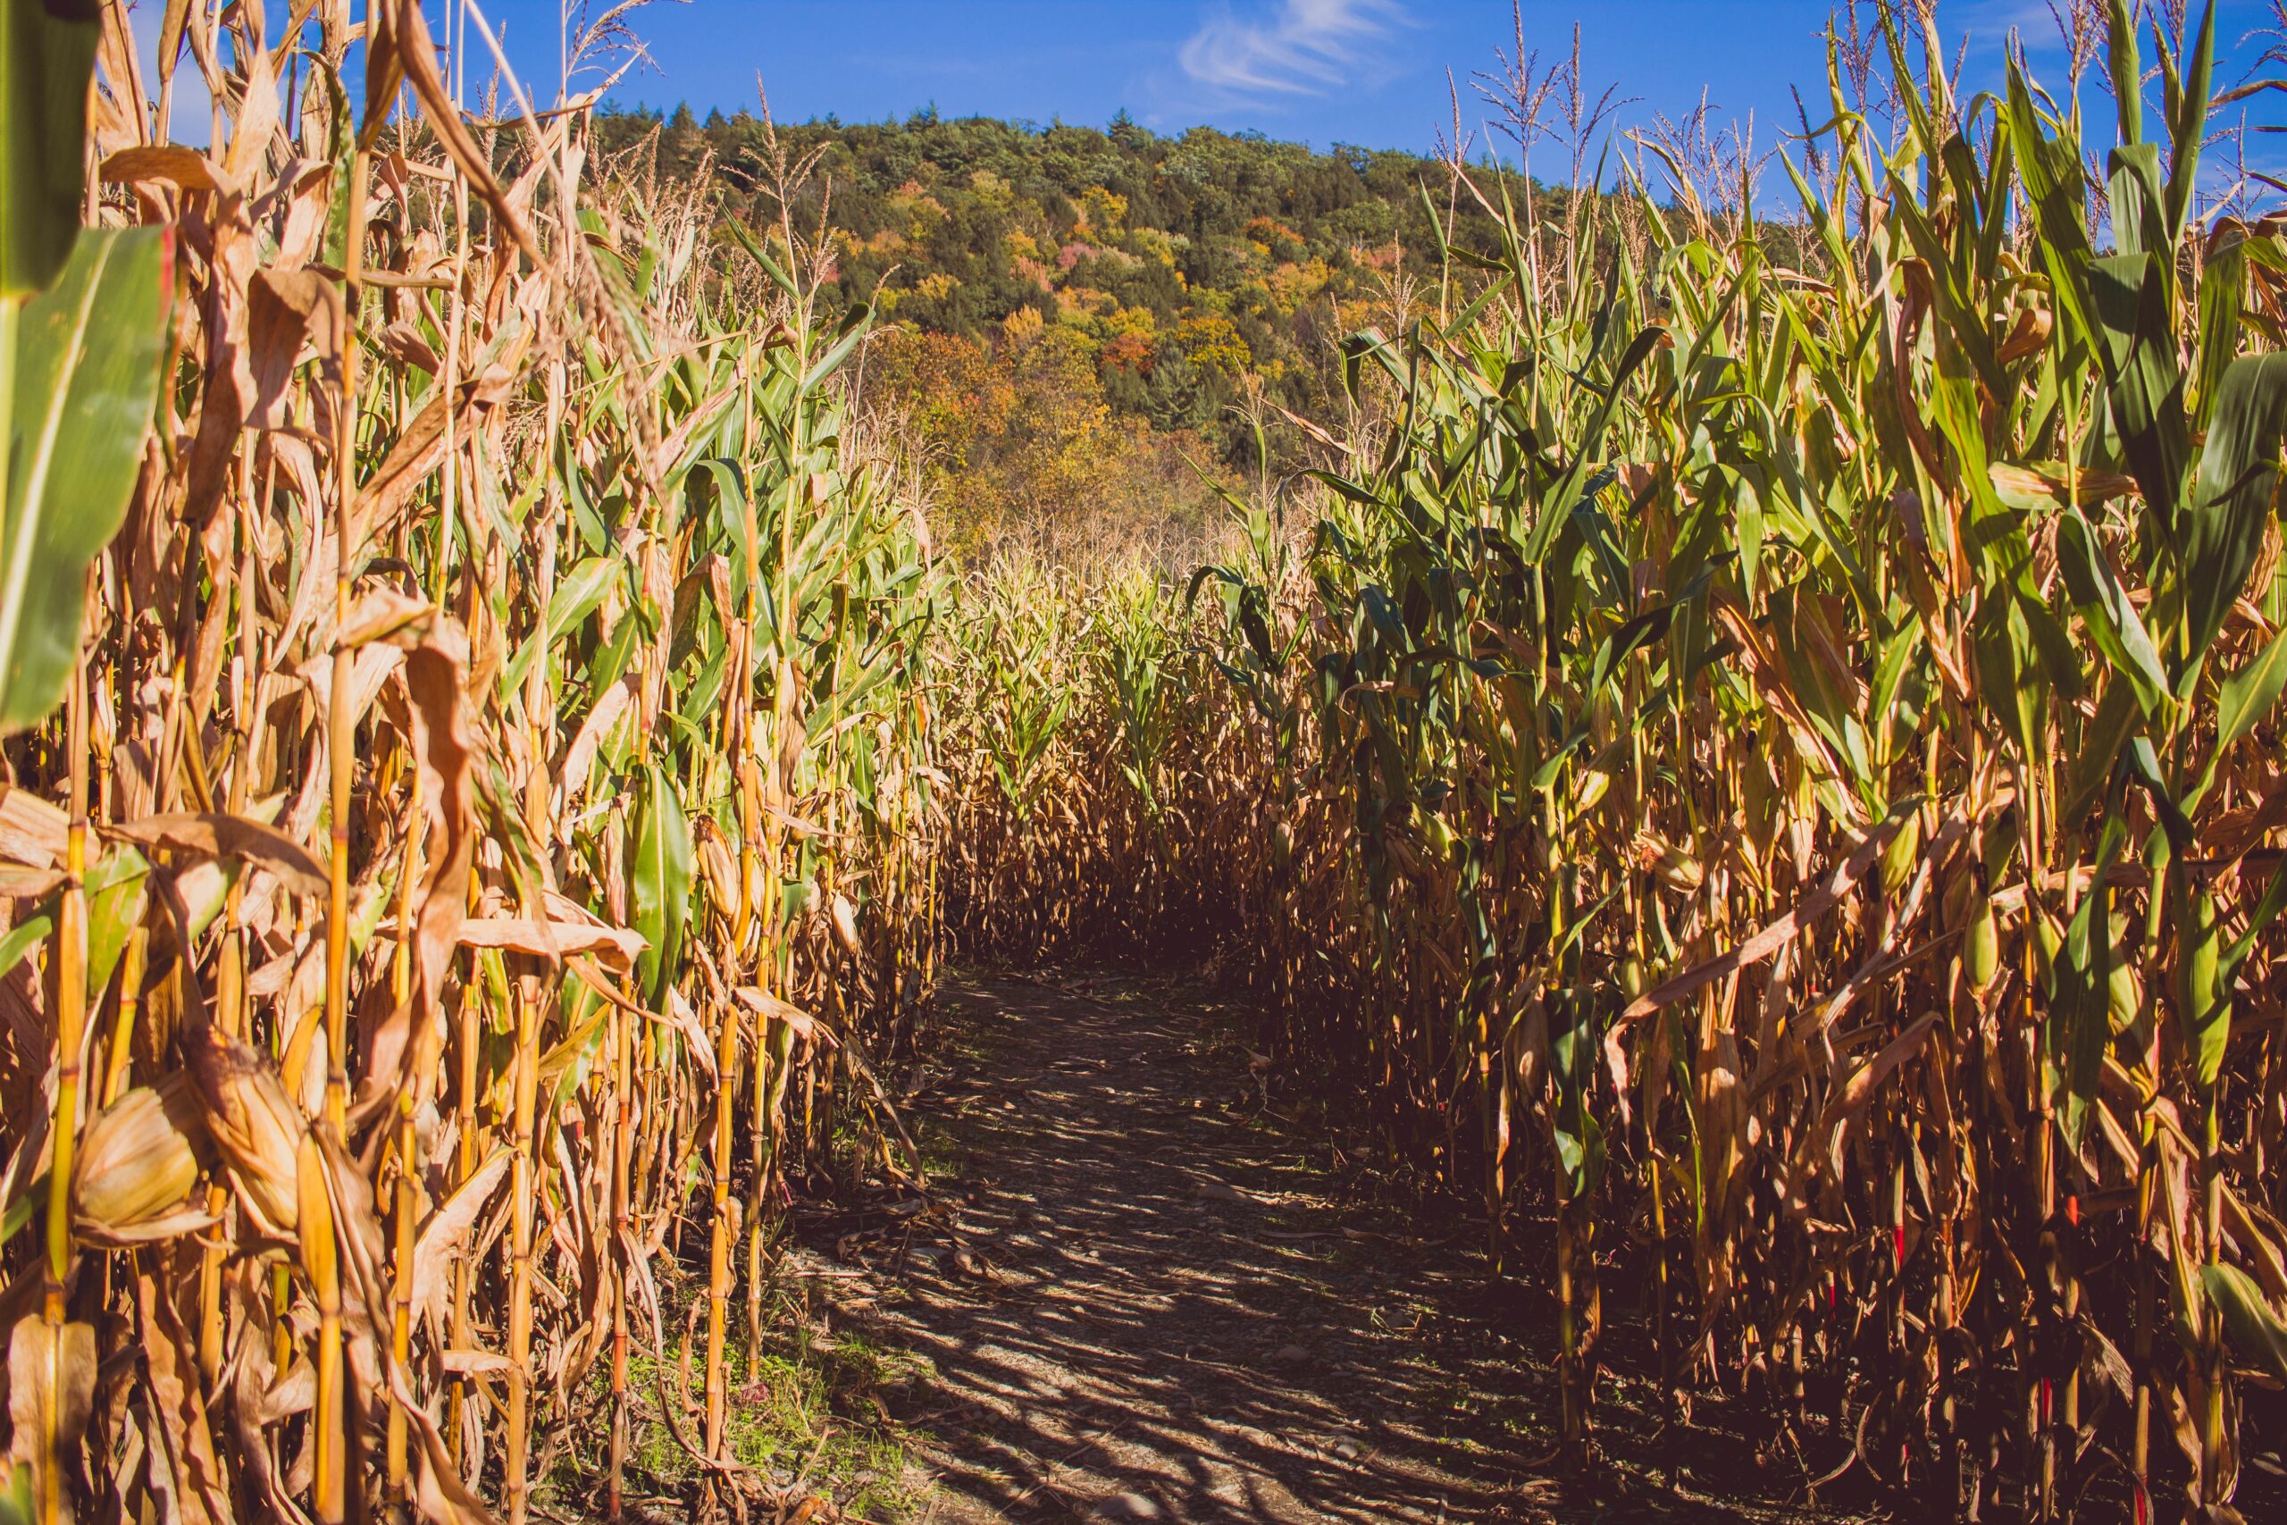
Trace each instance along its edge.
{"label": "bright blue sky with wispy white cloud above the hill", "polygon": [[[133,2],[149,39],[160,0]],[[455,2],[425,0],[439,39]],[[560,9],[579,14],[581,0],[478,2],[533,94],[553,96]],[[1795,126],[1791,85],[1818,117],[1820,27],[1836,2],[1525,0],[1523,48],[1544,66],[1557,62],[1578,23],[1589,94],[1615,85],[1633,98],[1617,128],[1654,112],[1683,117],[1704,96],[1718,121],[1752,117],[1756,146],[1770,149]],[[601,11],[606,0],[588,7]],[[2223,80],[2241,78],[2262,53],[2266,39],[2253,34],[2271,11],[2271,0],[2218,0]],[[1937,16],[1949,46],[1967,41],[1969,89],[1999,80],[2010,27],[2035,75],[2061,82],[2065,73],[2049,0],[1939,0]],[[771,110],[791,121],[880,121],[935,105],[947,117],[1100,126],[1125,110],[1164,133],[1212,123],[1322,149],[1432,149],[1452,135],[1450,75],[1473,153],[1507,151],[1487,128],[1491,107],[1475,85],[1480,71],[1500,69],[1498,53],[1516,53],[1509,0],[654,0],[629,23],[647,62],[611,91],[624,105],[755,110],[759,78]],[[476,66],[483,57],[471,34],[471,82],[489,73]],[[2253,110],[2287,121],[2273,101],[2287,96]],[[178,126],[197,121],[204,137],[204,103],[178,107]],[[1537,167],[1546,174],[1555,162]]]}

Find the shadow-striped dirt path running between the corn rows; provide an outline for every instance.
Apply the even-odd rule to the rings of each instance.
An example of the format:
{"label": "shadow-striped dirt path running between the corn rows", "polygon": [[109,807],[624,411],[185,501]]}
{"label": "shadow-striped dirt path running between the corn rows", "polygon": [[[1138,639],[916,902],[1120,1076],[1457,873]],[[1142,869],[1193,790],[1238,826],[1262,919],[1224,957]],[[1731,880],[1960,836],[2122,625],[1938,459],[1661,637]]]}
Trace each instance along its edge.
{"label": "shadow-striped dirt path running between the corn rows", "polygon": [[1619,1466],[1537,1475],[1539,1319],[1473,1248],[1333,1200],[1244,1052],[1166,997],[956,983],[961,1047],[910,1118],[954,1155],[935,1205],[805,1232],[835,1317],[919,1358],[887,1399],[938,1472],[924,1520],[1759,1518],[1656,1482],[1651,1415]]}

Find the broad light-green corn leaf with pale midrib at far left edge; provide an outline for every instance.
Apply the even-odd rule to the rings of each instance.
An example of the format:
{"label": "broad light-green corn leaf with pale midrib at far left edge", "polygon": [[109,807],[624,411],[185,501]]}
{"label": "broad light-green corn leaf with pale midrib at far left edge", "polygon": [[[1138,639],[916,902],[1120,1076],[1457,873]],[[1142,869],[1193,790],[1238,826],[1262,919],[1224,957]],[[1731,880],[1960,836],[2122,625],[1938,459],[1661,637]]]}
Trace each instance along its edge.
{"label": "broad light-green corn leaf with pale midrib at far left edge", "polygon": [[0,313],[0,348],[16,320],[14,386],[0,400],[0,732],[37,725],[64,697],[87,562],[128,512],[167,348],[167,240],[89,231],[55,286]]}

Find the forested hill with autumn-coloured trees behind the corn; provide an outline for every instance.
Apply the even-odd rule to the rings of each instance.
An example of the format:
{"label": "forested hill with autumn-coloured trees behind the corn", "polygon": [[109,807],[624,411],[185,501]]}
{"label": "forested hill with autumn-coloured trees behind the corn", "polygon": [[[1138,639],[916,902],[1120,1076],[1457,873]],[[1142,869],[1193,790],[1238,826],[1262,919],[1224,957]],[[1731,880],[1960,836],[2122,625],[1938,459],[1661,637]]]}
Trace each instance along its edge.
{"label": "forested hill with autumn-coloured trees behind the corn", "polygon": [[[1441,213],[1448,194],[1416,153],[1169,137],[1125,117],[778,133],[823,151],[807,194],[832,197],[832,302],[874,302],[892,325],[876,373],[933,448],[942,517],[972,537],[1070,517],[1075,494],[1114,517],[1194,512],[1176,450],[1253,464],[1251,393],[1320,412],[1333,341],[1434,270],[1425,190]],[[611,110],[597,137],[606,153],[650,139],[670,181],[704,165],[732,210],[762,190],[757,117]],[[1491,219],[1457,210],[1461,240],[1498,247]]]}

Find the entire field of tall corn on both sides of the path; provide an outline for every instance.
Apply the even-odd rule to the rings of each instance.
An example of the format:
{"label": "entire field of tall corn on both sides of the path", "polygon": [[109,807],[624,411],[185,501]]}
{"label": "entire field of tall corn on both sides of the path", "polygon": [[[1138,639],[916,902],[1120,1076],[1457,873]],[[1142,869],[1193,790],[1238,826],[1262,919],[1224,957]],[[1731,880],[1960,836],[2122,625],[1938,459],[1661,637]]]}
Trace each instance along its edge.
{"label": "entire field of tall corn on both sides of the path", "polygon": [[1553,1461],[1610,1292],[1820,1486],[2237,1518],[2287,217],[2212,16],[2113,2],[2154,103],[1884,11],[1786,217],[1455,162],[1503,245],[1169,576],[933,556],[812,165],[720,219],[357,11],[0,11],[0,1518],[620,1518],[652,1422],[812,1518],[725,1443],[782,1209],[915,1182],[940,956],[1105,947],[1477,1205]]}

